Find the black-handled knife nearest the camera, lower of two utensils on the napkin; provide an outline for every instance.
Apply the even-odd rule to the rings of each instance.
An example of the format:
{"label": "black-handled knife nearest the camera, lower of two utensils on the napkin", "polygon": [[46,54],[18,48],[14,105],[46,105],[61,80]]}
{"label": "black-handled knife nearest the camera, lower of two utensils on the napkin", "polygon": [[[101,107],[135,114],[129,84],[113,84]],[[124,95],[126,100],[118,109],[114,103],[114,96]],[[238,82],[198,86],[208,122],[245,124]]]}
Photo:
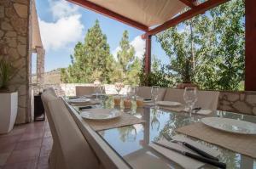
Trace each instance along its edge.
{"label": "black-handled knife nearest the camera, lower of two utensils on the napkin", "polygon": [[175,152],[177,152],[178,154],[185,155],[185,156],[187,156],[187,157],[190,157],[190,158],[192,158],[192,159],[195,159],[196,161],[201,161],[201,162],[204,162],[204,163],[207,163],[207,164],[211,164],[212,166],[218,166],[219,168],[224,168],[224,169],[226,168],[226,164],[223,163],[223,162],[214,161],[214,160],[212,160],[212,159],[208,159],[208,158],[202,157],[202,156],[200,156],[200,155],[194,155],[194,154],[189,153],[189,152],[187,152],[187,151],[182,151],[182,150],[180,150],[180,149],[175,149],[175,148],[172,148],[172,147],[169,147],[169,146],[166,146],[166,145],[164,145],[164,144],[160,144],[160,143],[157,143],[157,142],[154,142],[154,141],[153,141],[152,143],[154,143],[154,144],[156,144],[156,145],[159,145],[159,146],[161,146],[161,147],[164,147],[164,148],[166,148],[166,149],[171,149],[172,151],[175,151]]}

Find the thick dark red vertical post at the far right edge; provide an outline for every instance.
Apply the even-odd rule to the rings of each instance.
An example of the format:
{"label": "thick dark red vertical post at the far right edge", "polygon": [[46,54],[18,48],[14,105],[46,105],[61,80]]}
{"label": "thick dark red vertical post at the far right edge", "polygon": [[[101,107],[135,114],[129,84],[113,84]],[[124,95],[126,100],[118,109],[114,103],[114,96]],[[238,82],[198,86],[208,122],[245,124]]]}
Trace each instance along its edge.
{"label": "thick dark red vertical post at the far right edge", "polygon": [[245,90],[256,91],[256,1],[245,0]]}

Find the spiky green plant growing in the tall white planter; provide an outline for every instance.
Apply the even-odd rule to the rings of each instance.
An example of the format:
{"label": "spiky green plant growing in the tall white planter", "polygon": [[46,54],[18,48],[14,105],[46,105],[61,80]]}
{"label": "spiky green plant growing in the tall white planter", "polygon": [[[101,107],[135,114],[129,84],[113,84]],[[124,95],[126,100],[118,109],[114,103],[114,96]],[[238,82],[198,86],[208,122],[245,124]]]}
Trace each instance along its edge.
{"label": "spiky green plant growing in the tall white planter", "polygon": [[14,68],[9,60],[0,60],[0,89],[8,90],[8,83],[14,76]]}

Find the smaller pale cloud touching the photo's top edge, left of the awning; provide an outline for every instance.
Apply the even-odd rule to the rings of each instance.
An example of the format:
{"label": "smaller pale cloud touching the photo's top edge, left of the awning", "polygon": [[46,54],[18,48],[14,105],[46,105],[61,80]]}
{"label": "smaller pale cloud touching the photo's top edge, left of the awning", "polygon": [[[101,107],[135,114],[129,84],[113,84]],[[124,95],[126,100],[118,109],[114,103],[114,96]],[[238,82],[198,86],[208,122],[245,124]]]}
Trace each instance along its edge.
{"label": "smaller pale cloud touching the photo's top edge, left of the awning", "polygon": [[61,19],[73,14],[78,14],[79,7],[65,0],[49,0],[49,9],[54,19]]}

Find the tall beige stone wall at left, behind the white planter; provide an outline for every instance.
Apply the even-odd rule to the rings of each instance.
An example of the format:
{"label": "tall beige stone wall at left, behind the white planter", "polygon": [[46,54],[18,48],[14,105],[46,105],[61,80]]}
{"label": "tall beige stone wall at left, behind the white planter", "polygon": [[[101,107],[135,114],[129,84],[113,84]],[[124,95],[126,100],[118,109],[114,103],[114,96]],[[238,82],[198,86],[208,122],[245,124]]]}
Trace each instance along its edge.
{"label": "tall beige stone wall at left, behind the white planter", "polygon": [[0,57],[7,57],[15,67],[15,76],[9,88],[19,93],[16,123],[31,121],[30,7],[31,0],[0,1]]}

